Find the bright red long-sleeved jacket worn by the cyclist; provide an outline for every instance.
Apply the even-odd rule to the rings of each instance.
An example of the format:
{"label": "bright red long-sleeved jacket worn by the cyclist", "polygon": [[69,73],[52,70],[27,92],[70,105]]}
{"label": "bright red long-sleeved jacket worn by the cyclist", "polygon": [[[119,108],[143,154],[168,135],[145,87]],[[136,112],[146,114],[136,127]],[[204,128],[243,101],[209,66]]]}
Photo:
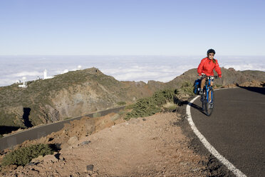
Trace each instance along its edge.
{"label": "bright red long-sleeved jacket worn by the cyclist", "polygon": [[214,76],[214,70],[217,71],[218,76],[221,76],[222,72],[219,67],[217,59],[214,61],[208,59],[208,57],[202,59],[201,63],[198,66],[197,72],[199,76],[206,74],[207,76]]}

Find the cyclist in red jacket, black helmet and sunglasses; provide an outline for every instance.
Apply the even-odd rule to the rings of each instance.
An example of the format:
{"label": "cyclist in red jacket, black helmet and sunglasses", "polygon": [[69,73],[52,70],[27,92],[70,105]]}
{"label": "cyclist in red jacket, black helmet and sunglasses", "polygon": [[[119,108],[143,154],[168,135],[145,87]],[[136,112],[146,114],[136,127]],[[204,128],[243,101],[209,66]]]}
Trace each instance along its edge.
{"label": "cyclist in red jacket, black helmet and sunglasses", "polygon": [[[197,69],[199,76],[202,76],[202,75],[214,76],[214,70],[215,70],[217,71],[219,78],[222,77],[221,69],[219,67],[217,59],[214,59],[214,54],[215,54],[214,49],[209,49],[207,51],[207,57],[202,59]],[[206,79],[202,77],[201,90],[199,91],[199,94],[201,95],[203,93],[203,87],[204,87],[205,81]],[[211,81],[211,86],[212,85],[213,85],[213,82]]]}

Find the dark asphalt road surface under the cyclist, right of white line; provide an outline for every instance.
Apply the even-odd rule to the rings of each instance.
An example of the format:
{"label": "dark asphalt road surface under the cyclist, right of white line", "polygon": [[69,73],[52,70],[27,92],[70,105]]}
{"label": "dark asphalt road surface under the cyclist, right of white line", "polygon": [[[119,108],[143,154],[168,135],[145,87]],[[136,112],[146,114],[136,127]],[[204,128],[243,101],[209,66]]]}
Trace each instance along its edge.
{"label": "dark asphalt road surface under the cyclist, right of white line", "polygon": [[246,176],[265,176],[265,88],[214,91],[212,116],[197,98],[192,119],[202,135]]}

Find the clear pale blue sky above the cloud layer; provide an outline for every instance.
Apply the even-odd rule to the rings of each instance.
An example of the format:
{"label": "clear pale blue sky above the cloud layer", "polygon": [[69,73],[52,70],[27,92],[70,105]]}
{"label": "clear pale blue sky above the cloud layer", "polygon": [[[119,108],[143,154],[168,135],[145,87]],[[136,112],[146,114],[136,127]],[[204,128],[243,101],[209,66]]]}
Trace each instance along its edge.
{"label": "clear pale blue sky above the cloud layer", "polygon": [[265,1],[0,0],[0,55],[265,55]]}

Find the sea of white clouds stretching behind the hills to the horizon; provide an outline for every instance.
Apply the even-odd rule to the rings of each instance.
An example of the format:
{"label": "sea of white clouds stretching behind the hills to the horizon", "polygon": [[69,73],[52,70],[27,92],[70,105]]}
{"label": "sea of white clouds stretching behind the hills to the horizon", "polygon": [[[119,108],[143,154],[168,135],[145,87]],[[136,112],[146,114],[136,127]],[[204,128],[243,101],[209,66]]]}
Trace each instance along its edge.
{"label": "sea of white clouds stretching behind the hills to the horizon", "polygon": [[[0,86],[26,77],[43,79],[68,71],[95,67],[119,81],[167,82],[185,71],[197,68],[205,56],[0,56]],[[265,56],[216,56],[219,66],[239,71],[265,71]]]}

